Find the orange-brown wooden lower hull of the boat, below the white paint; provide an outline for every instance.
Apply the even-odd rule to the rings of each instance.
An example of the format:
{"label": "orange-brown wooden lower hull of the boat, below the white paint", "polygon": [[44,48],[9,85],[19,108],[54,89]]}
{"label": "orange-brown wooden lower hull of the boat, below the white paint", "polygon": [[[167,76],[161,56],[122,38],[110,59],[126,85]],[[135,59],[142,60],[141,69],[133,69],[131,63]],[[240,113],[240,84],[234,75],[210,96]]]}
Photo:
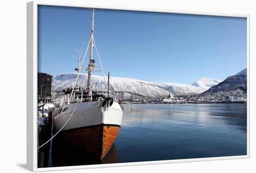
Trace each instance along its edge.
{"label": "orange-brown wooden lower hull of the boat, below the white paint", "polygon": [[61,131],[60,145],[76,152],[90,154],[95,160],[102,160],[119,133],[119,125],[100,124]]}

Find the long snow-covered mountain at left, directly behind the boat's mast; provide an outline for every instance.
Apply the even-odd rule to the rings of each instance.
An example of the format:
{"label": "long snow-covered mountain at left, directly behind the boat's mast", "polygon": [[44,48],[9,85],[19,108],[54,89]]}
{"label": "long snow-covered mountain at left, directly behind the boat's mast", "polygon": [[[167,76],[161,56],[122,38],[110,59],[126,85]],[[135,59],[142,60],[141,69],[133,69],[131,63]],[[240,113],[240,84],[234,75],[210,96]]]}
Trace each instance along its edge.
{"label": "long snow-covered mountain at left, directly behind the boat's mast", "polygon": [[[80,78],[84,86],[87,86],[88,74],[81,74]],[[67,87],[73,86],[76,79],[76,73],[63,73],[54,75],[55,90],[61,91]],[[106,77],[106,80],[108,78]],[[136,80],[130,78],[110,77],[112,91],[128,91],[139,93],[149,97],[166,97],[169,91],[153,82]],[[106,84],[103,76],[92,75],[92,88],[94,90],[106,90]],[[171,93],[171,95],[173,95]]]}

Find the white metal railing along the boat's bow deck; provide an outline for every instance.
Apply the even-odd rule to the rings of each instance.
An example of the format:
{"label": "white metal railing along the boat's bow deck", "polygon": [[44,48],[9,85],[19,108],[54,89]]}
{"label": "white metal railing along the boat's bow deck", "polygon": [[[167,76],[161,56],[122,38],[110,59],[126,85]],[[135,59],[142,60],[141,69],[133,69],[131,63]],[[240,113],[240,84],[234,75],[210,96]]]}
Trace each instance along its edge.
{"label": "white metal railing along the boat's bow deck", "polygon": [[108,90],[97,90],[92,91],[92,94],[87,94],[86,91],[79,91],[74,92],[72,95],[71,93],[65,95],[59,95],[58,98],[55,100],[55,104],[62,106],[71,103],[77,102],[86,102],[89,100],[97,99],[97,97],[104,98],[112,98],[115,102],[118,102],[118,95],[112,91]]}

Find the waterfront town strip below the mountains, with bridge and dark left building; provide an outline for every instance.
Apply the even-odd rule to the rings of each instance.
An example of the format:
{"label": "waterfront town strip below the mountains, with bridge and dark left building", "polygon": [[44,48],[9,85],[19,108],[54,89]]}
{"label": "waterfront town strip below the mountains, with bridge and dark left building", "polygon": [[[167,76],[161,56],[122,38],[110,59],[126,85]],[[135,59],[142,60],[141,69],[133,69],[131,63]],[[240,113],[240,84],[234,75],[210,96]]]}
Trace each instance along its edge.
{"label": "waterfront town strip below the mountains, with bridge and dark left building", "polygon": [[[47,73],[38,73],[38,98],[43,102],[52,102],[60,95],[65,94],[65,90],[55,90],[52,75]],[[229,91],[204,92],[189,95],[174,95],[162,97],[146,97],[138,93],[129,91],[114,91],[117,93],[120,103],[123,104],[154,104],[154,103],[246,103],[247,92],[243,88],[237,88]]]}

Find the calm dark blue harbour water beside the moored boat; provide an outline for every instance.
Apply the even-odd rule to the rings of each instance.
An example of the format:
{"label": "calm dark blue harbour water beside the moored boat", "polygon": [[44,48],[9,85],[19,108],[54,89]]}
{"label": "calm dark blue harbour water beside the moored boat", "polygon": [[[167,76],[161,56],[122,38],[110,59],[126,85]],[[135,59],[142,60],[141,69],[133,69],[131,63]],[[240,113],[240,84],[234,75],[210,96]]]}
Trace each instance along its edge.
{"label": "calm dark blue harbour water beside the moored boat", "polygon": [[[123,104],[121,107],[124,113],[120,133],[102,163],[247,154],[246,104]],[[72,162],[67,160],[70,157]],[[81,161],[70,154],[65,160],[56,166],[99,164],[90,159]]]}

